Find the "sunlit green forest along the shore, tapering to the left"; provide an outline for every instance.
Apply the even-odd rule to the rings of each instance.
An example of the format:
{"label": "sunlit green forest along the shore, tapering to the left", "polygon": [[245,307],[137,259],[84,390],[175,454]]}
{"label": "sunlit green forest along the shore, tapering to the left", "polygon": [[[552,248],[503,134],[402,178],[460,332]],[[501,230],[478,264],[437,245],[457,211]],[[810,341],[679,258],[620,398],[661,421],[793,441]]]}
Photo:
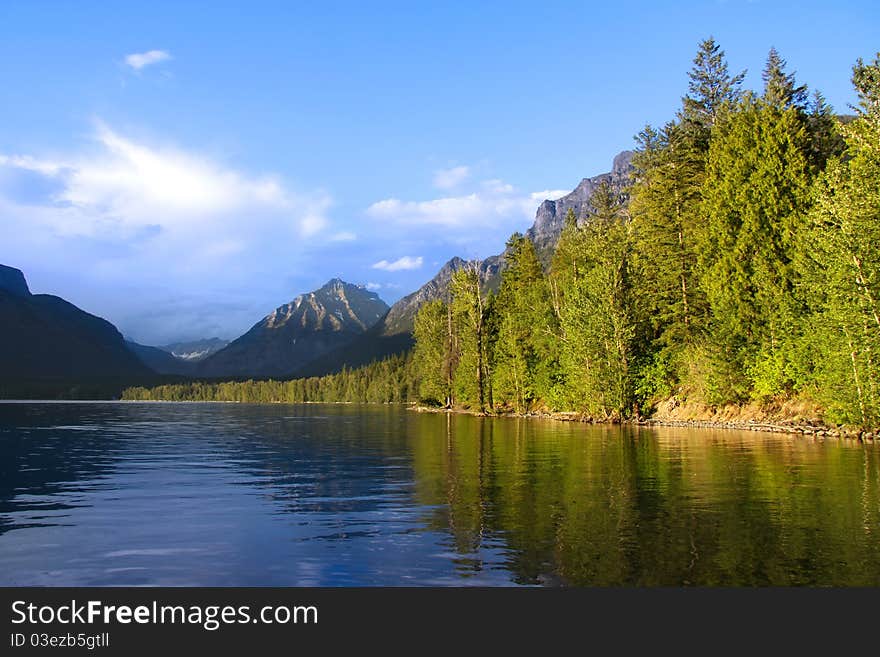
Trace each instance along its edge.
{"label": "sunlit green forest along the shore, tapering to the left", "polygon": [[[714,40],[629,186],[570,213],[549,262],[515,234],[497,290],[457,271],[406,355],[126,399],[414,401],[594,421],[880,427],[880,54],[836,114],[771,50],[760,93]],[[733,409],[733,410],[732,410]],[[769,420],[768,420],[769,419]],[[803,430],[803,429],[802,429]]]}

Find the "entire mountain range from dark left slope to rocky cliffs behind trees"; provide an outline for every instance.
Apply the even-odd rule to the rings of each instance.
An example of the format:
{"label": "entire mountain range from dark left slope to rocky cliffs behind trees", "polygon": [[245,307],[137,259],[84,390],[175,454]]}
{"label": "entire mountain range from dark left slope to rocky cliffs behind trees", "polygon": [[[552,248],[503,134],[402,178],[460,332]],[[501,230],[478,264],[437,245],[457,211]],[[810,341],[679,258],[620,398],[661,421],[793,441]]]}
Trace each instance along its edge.
{"label": "entire mountain range from dark left slope to rocky cliffs behind trees", "polygon": [[[526,232],[545,266],[573,210],[590,213],[603,183],[622,194],[632,152],[614,158],[608,173],[584,178],[562,198],[544,201]],[[227,342],[208,338],[152,347],[125,340],[109,322],[50,295],[32,295],[18,269],[0,265],[0,382],[17,379],[86,379],[174,375],[187,378],[319,376],[408,350],[413,322],[428,301],[444,298],[455,271],[452,258],[418,290],[390,308],[375,293],[340,279],[302,294]],[[486,290],[497,289],[504,254],[478,264]]]}

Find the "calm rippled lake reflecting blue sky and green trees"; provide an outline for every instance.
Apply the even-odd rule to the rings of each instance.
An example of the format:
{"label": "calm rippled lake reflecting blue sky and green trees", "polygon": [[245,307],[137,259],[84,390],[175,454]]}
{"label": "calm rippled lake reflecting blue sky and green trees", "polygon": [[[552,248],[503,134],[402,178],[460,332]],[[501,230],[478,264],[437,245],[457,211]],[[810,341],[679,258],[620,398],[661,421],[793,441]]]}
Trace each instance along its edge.
{"label": "calm rippled lake reflecting blue sky and green trees", "polygon": [[2,585],[880,585],[880,447],[0,403]]}

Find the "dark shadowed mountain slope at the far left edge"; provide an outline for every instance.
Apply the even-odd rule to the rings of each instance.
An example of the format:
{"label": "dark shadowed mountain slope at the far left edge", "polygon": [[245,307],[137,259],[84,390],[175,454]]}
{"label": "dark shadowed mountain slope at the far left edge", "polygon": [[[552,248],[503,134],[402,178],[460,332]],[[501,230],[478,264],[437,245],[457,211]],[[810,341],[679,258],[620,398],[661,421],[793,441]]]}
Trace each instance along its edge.
{"label": "dark shadowed mountain slope at the far left edge", "polygon": [[107,320],[49,294],[31,294],[24,274],[0,265],[0,379],[143,379],[153,376]]}

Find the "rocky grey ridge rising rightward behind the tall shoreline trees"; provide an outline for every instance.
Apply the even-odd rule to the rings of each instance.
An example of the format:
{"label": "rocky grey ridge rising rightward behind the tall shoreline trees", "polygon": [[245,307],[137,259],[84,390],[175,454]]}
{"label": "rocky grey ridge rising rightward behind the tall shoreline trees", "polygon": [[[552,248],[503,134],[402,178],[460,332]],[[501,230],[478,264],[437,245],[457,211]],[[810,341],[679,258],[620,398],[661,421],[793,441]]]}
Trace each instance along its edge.
{"label": "rocky grey ridge rising rightward behind the tall shoreline trees", "polygon": [[[572,192],[555,201],[546,200],[535,213],[535,222],[526,231],[532,240],[538,257],[545,267],[550,264],[569,209],[584,219],[592,208],[590,198],[603,183],[609,183],[617,194],[623,196],[632,172],[632,151],[623,151],[615,156],[611,171],[592,178],[584,178]],[[409,294],[393,306],[388,313],[369,331],[342,349],[316,358],[308,366],[300,369],[301,376],[320,376],[338,372],[344,366],[358,367],[378,358],[399,354],[408,350],[412,344],[413,322],[416,313],[428,301],[444,298],[452,274],[466,265],[459,257],[452,258],[430,281]],[[496,291],[501,284],[504,270],[504,254],[489,256],[478,263],[480,280],[484,291]]]}

